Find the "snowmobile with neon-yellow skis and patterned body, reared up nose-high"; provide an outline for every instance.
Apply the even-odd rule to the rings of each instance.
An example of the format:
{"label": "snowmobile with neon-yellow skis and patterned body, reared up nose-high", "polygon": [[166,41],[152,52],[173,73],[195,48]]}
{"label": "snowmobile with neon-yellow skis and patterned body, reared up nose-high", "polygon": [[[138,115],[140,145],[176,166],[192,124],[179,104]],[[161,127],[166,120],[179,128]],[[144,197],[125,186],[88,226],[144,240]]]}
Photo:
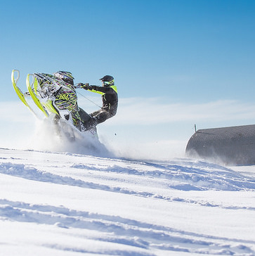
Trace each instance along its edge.
{"label": "snowmobile with neon-yellow skis and patterned body, reared up nose-high", "polygon": [[[17,77],[15,78],[15,73]],[[79,108],[76,90],[79,87],[68,84],[54,75],[46,73],[28,74],[26,79],[27,92],[23,93],[17,86],[20,78],[19,70],[13,70],[11,81],[18,97],[38,117],[27,98],[32,98],[37,108],[46,117],[51,117],[59,127],[71,127],[72,133],[89,132],[97,136],[96,127],[85,129],[86,122],[91,121],[91,115]],[[32,82],[30,80],[32,79]],[[72,135],[74,137],[74,135]]]}

